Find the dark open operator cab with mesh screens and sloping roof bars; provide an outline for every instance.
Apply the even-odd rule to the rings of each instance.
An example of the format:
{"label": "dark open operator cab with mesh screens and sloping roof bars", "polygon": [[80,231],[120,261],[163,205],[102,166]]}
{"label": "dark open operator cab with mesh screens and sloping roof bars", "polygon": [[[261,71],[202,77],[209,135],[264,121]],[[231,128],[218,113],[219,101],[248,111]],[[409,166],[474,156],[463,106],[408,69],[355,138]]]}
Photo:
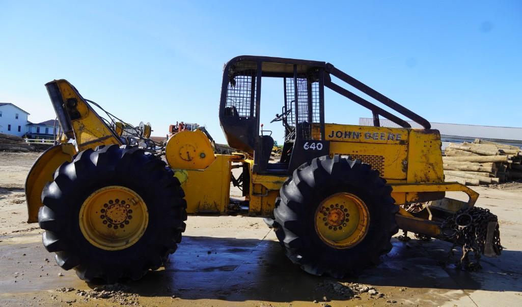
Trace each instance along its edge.
{"label": "dark open operator cab with mesh screens and sloping roof bars", "polygon": [[[325,139],[324,87],[372,111],[374,126],[379,115],[402,127],[407,121],[333,83],[330,75],[352,85],[398,113],[429,129],[430,123],[384,95],[325,62],[311,60],[239,56],[224,67],[219,107],[223,132],[232,148],[253,156],[253,173],[289,175],[299,165],[330,153]],[[283,105],[270,122],[281,122],[284,143],[279,162],[269,163],[274,139],[260,129],[261,86],[266,78],[283,84]]]}

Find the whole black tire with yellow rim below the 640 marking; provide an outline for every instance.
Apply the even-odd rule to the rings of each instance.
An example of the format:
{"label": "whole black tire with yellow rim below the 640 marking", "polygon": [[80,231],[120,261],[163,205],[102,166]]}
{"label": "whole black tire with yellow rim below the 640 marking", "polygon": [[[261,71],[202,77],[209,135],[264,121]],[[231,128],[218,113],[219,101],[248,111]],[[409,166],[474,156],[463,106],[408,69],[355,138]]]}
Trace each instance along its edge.
{"label": "whole black tire with yellow rim below the 640 marking", "polygon": [[342,278],[392,249],[399,210],[378,171],[356,159],[319,157],[295,169],[274,210],[289,259],[314,275]]}

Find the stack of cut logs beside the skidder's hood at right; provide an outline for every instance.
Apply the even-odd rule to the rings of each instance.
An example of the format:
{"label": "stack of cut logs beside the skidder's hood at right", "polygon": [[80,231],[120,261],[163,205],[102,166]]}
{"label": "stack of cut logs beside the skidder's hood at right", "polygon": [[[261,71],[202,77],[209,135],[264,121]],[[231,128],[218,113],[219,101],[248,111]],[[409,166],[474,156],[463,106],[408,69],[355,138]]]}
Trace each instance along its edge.
{"label": "stack of cut logs beside the skidder's hood at right", "polygon": [[491,185],[522,179],[522,150],[481,139],[449,143],[442,157],[446,182],[467,186]]}

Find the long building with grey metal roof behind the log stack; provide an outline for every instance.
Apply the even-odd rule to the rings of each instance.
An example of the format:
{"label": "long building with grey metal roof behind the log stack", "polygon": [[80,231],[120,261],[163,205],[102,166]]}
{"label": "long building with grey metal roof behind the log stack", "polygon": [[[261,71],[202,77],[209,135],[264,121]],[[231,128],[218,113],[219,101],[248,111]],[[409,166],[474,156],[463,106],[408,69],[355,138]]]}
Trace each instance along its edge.
{"label": "long building with grey metal roof behind the log stack", "polygon": [[[400,128],[391,120],[382,118],[380,121],[382,127]],[[408,120],[408,123],[412,128],[422,128],[414,121]],[[373,119],[359,118],[359,125],[373,126]],[[441,132],[443,149],[449,142],[473,142],[474,139],[483,139],[522,148],[522,128],[446,124],[444,122],[431,122],[431,128]]]}

